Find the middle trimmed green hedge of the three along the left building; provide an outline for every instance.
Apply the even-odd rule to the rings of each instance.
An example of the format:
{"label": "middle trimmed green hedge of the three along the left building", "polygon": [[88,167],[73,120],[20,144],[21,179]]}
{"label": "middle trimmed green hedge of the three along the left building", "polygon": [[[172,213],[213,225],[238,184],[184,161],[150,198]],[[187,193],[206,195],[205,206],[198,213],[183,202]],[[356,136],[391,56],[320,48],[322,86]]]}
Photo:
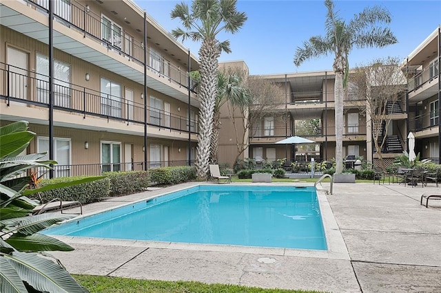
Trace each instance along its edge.
{"label": "middle trimmed green hedge of the three along the left building", "polygon": [[147,171],[118,171],[103,173],[110,180],[110,195],[128,195],[144,191],[149,186],[150,175]]}

